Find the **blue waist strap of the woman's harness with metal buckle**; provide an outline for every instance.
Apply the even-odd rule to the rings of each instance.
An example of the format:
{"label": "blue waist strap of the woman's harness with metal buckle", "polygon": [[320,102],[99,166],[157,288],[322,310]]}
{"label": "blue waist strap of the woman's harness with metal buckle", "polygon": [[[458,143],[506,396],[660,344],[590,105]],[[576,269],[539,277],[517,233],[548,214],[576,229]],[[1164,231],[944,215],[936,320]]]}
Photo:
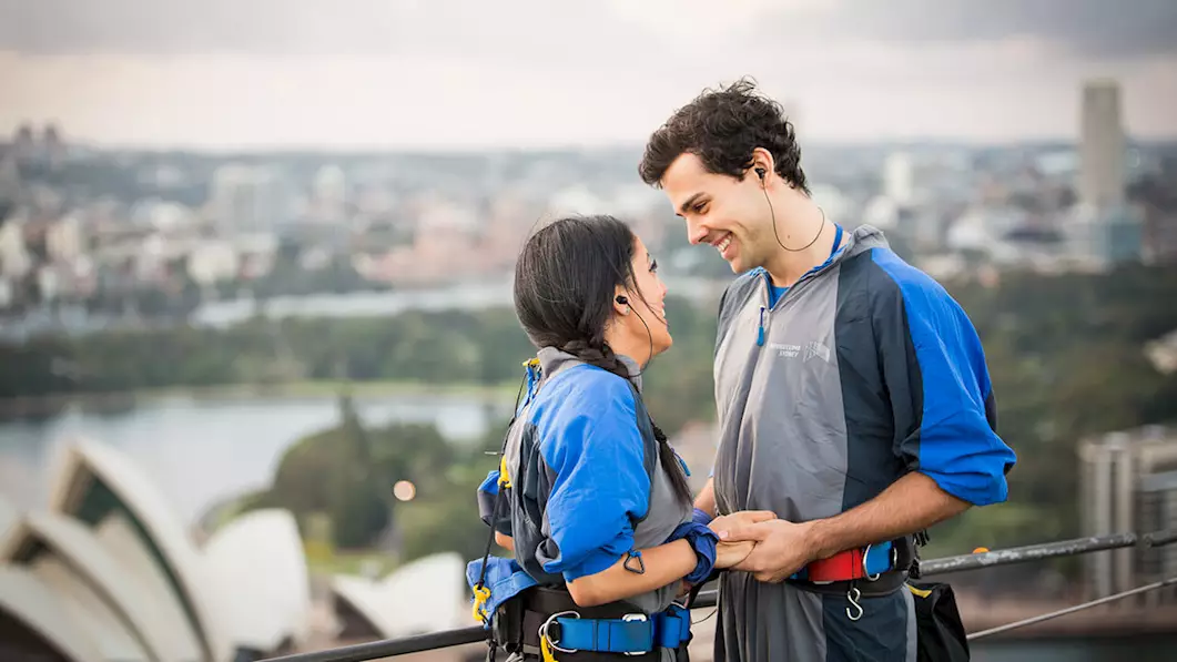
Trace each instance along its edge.
{"label": "blue waist strap of the woman's harness with metal buckle", "polygon": [[552,643],[565,650],[649,653],[656,647],[678,648],[691,641],[691,613],[677,604],[652,616],[577,618],[558,616],[559,636]]}

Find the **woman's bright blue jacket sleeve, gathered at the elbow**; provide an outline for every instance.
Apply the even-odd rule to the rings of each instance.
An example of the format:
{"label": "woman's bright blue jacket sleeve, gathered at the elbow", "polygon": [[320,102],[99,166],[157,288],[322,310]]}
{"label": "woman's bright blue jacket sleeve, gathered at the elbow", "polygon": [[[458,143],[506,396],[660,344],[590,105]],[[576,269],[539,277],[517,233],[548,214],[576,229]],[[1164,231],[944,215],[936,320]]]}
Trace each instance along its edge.
{"label": "woman's bright blue jacket sleeve, gathered at the elbow", "polygon": [[541,562],[566,581],[605,570],[632,550],[633,521],[645,516],[650,499],[633,393],[616,375],[585,381],[586,390],[539,430],[552,475],[544,533],[556,551]]}

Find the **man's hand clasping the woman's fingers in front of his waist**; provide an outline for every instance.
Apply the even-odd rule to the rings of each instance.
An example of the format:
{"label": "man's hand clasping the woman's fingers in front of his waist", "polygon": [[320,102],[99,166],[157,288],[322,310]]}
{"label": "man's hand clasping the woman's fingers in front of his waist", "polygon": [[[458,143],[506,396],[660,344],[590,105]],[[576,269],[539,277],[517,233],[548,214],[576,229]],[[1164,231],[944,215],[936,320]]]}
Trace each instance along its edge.
{"label": "man's hand clasping the woman's fingers in front of his waist", "polygon": [[762,582],[778,583],[804,568],[817,554],[812,548],[810,524],[785,520],[749,522],[719,531],[724,542],[753,541],[756,547],[744,561],[732,567]]}

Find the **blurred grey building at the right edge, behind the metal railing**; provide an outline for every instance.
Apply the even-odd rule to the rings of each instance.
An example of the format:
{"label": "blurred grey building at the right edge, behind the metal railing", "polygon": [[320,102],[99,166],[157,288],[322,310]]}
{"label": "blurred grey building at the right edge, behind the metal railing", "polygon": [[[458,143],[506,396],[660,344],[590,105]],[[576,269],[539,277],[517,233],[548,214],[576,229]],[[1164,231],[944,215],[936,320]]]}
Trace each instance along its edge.
{"label": "blurred grey building at the right edge, behind the metal railing", "polygon": [[[1148,426],[1079,446],[1084,535],[1145,534],[1177,528],[1177,428]],[[1177,546],[1097,551],[1085,557],[1092,599],[1177,576]],[[1177,588],[1144,594],[1177,603]]]}

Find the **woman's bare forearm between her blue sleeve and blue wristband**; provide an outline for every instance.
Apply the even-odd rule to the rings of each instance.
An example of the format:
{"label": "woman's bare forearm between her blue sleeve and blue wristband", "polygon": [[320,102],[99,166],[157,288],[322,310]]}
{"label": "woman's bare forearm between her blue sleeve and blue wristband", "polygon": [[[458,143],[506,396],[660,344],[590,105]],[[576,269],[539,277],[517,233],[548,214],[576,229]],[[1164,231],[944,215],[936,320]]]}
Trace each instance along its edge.
{"label": "woman's bare forearm between her blue sleeve and blue wristband", "polygon": [[681,580],[698,564],[694,548],[686,540],[643,549],[641,561],[645,563],[645,573],[627,570],[626,561],[630,561],[631,568],[637,567],[637,559],[623,556],[617,563],[594,575],[585,575],[568,582],[572,600],[580,607],[624,600]]}

